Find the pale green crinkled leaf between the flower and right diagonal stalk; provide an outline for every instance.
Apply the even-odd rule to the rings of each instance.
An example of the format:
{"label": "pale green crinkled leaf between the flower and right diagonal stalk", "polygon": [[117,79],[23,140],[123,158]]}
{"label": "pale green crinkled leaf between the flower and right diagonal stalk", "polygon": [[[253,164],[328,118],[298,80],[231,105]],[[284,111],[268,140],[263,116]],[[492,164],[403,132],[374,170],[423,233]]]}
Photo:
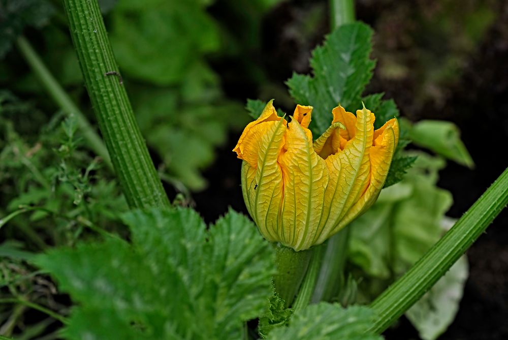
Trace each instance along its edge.
{"label": "pale green crinkled leaf between the flower and right diagonal stalk", "polygon": [[435,186],[442,166],[442,160],[419,153],[407,176],[351,223],[350,261],[370,277],[404,273],[440,238],[440,221],[452,204],[451,194]]}

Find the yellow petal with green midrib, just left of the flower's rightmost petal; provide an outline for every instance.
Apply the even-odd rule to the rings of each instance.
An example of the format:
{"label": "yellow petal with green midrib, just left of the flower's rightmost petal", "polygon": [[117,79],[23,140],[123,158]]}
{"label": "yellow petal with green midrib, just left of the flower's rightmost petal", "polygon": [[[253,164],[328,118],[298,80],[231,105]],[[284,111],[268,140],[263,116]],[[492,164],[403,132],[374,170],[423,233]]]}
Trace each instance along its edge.
{"label": "yellow petal with green midrib, just left of the flower's rightmost petal", "polygon": [[[347,117],[347,112],[344,115],[345,110],[335,111]],[[351,124],[351,119],[347,124]],[[347,124],[344,123],[348,131],[352,131],[351,126],[348,127]],[[347,142],[342,151],[325,160],[330,173],[330,182],[326,189],[320,230],[313,243],[322,243],[332,233],[338,231],[336,226],[339,221],[366,190],[370,178],[369,151],[372,147],[373,134],[373,114],[366,108],[358,110],[354,137]]]}

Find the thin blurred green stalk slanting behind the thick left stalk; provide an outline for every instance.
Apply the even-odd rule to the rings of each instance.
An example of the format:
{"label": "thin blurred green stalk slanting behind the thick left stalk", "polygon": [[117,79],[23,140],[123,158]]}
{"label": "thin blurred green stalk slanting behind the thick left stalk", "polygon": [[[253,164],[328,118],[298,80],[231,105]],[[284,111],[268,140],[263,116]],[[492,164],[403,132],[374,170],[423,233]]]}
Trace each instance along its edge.
{"label": "thin blurred green stalk slanting behind the thick left stalk", "polygon": [[98,156],[100,156],[110,169],[113,169],[108,149],[106,148],[106,145],[104,145],[101,137],[91,127],[85,115],[78,109],[76,104],[74,104],[67,92],[63,90],[51,72],[49,72],[48,68],[46,65],[44,65],[43,61],[34,50],[34,48],[24,37],[19,37],[16,41],[16,45],[21,52],[21,55],[26,60],[35,76],[39,79],[42,86],[46,89],[53,101],[63,111],[74,114],[76,116],[79,123],[79,128],[90,149]]}

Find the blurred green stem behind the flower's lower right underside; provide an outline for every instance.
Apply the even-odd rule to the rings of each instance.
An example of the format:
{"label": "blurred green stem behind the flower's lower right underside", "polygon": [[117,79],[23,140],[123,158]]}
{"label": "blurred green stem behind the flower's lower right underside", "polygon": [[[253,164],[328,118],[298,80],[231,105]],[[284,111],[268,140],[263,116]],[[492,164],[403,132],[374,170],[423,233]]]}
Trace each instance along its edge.
{"label": "blurred green stem behind the flower's lower right underside", "polygon": [[327,241],[320,273],[312,295],[313,303],[330,301],[338,295],[342,288],[349,234],[349,227],[346,226]]}

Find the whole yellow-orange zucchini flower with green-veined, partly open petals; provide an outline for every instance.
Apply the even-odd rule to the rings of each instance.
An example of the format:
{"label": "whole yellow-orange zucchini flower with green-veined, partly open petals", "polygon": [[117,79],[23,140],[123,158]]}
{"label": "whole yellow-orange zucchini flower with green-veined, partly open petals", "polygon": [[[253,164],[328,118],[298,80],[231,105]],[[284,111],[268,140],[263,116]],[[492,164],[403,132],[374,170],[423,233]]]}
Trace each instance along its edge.
{"label": "whole yellow-orange zucchini flower with green-veined, partly open petals", "polygon": [[270,101],[233,151],[242,164],[250,216],[269,241],[295,251],[320,244],[369,208],[385,183],[397,146],[397,119],[374,131],[374,114],[338,106],[314,142],[312,107],[297,105],[291,121]]}

